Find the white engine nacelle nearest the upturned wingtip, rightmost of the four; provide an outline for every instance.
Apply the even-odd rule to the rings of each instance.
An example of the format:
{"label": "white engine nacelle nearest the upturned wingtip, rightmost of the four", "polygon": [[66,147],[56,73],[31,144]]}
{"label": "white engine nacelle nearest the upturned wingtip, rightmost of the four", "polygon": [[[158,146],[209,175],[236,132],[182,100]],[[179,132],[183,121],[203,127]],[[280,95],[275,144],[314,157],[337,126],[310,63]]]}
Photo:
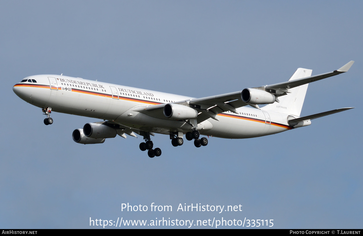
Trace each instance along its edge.
{"label": "white engine nacelle nearest the upturned wingtip, rightmost of the four", "polygon": [[275,95],[260,89],[244,89],[242,90],[242,101],[248,104],[272,104],[275,102]]}

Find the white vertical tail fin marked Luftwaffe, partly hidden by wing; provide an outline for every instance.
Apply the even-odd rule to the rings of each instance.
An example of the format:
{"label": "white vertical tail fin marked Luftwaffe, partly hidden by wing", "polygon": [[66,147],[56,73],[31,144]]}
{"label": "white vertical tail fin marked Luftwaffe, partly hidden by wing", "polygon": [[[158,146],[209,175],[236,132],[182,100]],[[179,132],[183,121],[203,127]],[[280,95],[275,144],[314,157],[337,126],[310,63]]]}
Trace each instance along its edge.
{"label": "white vertical tail fin marked Luftwaffe, partly hidden by wing", "polygon": [[[295,73],[291,76],[289,81],[309,77],[311,76],[311,72],[313,72],[311,69],[298,68],[295,71]],[[304,84],[289,89],[290,93],[278,97],[278,100],[280,100],[280,102],[274,102],[273,104],[268,104],[261,109],[268,111],[278,111],[281,113],[300,116],[302,104],[304,103],[305,99],[307,85],[309,84]]]}

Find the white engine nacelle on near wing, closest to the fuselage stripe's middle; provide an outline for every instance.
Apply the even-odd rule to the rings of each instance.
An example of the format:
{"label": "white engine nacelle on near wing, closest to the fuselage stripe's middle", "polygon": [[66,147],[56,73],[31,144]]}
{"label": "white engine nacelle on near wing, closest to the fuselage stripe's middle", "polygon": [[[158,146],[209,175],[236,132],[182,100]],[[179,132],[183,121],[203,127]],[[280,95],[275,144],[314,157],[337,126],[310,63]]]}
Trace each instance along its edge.
{"label": "white engine nacelle on near wing, closest to the fuselage stripe's middle", "polygon": [[168,103],[164,106],[164,115],[174,120],[195,119],[198,116],[198,111],[189,106]]}

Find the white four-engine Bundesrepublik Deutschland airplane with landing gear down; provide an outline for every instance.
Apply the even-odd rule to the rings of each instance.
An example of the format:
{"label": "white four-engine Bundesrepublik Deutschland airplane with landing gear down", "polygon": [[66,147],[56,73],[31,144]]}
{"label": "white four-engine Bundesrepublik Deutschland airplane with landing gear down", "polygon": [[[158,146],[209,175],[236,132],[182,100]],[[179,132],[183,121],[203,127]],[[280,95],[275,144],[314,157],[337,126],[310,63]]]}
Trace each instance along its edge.
{"label": "white four-engine Bundesrepublik Deutschland airplane with landing gear down", "polygon": [[[192,98],[61,75],[34,75],[13,86],[24,101],[42,109],[51,125],[52,111],[102,119],[73,131],[74,142],[97,144],[119,135],[143,136],[141,151],[161,155],[150,136],[170,136],[174,147],[183,136],[196,147],[206,146],[200,135],[228,139],[254,138],[311,125],[311,120],[352,108],[340,108],[300,117],[309,83],[347,72],[354,61],[328,73],[311,76],[298,68],[282,83],[215,96]],[[259,107],[258,105],[265,105]],[[136,133],[136,134],[135,134]]]}

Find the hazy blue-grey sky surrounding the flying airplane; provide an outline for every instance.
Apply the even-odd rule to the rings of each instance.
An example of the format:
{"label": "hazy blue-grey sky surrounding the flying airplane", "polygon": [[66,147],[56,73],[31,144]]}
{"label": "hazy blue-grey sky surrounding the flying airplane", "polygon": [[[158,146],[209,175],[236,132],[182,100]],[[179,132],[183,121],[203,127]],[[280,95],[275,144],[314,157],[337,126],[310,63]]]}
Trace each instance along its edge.
{"label": "hazy blue-grey sky surrounding the flying airplane", "polygon": [[[98,228],[90,217],[361,228],[361,9],[360,1],[2,1],[0,228]],[[206,97],[350,60],[349,72],[309,85],[301,115],[355,109],[261,138],[210,138],[202,148],[186,140],[175,148],[156,134],[163,154],[153,159],[139,150],[142,137],[75,143],[73,130],[98,120],[52,113],[45,126],[41,109],[12,91],[26,76],[63,73]],[[153,202],[173,211],[121,211]],[[243,207],[180,212],[179,203]]]}

